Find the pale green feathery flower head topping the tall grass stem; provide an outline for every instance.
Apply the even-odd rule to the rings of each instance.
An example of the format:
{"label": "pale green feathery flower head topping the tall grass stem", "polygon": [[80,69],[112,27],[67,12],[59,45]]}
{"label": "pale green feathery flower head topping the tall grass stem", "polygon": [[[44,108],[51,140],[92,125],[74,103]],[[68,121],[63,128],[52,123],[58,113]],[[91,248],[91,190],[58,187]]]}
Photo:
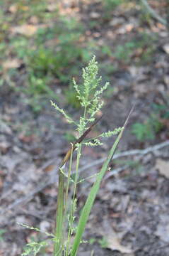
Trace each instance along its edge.
{"label": "pale green feathery flower head topping the tall grass stem", "polygon": [[[83,107],[84,114],[80,117],[79,122],[74,122],[71,117],[61,108],[57,106],[56,103],[52,102],[52,106],[64,115],[67,122],[70,124],[76,124],[76,130],[78,131],[78,135],[81,136],[83,132],[88,129],[89,123],[95,121],[95,114],[103,107],[103,100],[101,99],[101,95],[107,89],[109,82],[106,82],[105,85],[101,86],[100,82],[102,80],[101,77],[98,77],[98,63],[95,61],[95,56],[88,63],[86,68],[83,68],[83,85],[78,85],[76,80],[73,78],[74,89],[76,90],[76,97]],[[116,128],[114,131],[103,132],[93,139],[89,139],[86,144],[87,146],[98,146],[102,143],[98,140],[98,137],[111,137],[112,135],[117,135],[122,130],[122,127]]]}

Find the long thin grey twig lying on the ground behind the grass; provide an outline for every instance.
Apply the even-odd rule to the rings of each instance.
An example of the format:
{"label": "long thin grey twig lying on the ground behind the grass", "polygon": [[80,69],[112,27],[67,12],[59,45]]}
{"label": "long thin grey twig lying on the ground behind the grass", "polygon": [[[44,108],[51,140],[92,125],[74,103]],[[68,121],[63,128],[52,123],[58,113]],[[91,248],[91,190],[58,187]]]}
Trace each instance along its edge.
{"label": "long thin grey twig lying on the ground behind the grass", "polygon": [[[117,154],[115,154],[115,156],[113,156],[112,160],[118,159],[123,156],[134,156],[136,154],[141,154],[142,156],[144,156],[145,154],[148,154],[150,152],[153,152],[153,151],[156,151],[159,149],[163,149],[165,146],[169,146],[169,140],[167,140],[166,142],[162,142],[160,144],[156,144],[154,146],[149,146],[146,149],[134,149],[134,150],[124,151],[122,153],[117,153]],[[87,165],[81,167],[79,169],[79,172],[85,171],[86,169],[91,168],[93,166],[97,166],[98,164],[103,164],[105,159],[106,159],[106,157],[103,157],[102,159],[93,161],[91,164],[87,164]],[[126,168],[126,166],[122,166],[118,169],[115,169],[114,171],[111,172],[111,175],[115,175],[115,174],[119,173],[120,171],[124,170],[125,168]],[[105,176],[105,178],[109,178],[108,174],[107,174],[107,176]],[[56,182],[56,178],[54,178],[53,176],[50,176],[48,181],[46,181],[45,183],[42,183],[40,186],[35,188],[35,190],[32,191],[31,193],[29,193],[27,196],[24,196],[23,198],[19,198],[16,201],[14,201],[13,203],[11,203],[7,208],[4,208],[3,210],[1,210],[0,214],[2,215],[4,213],[6,213],[8,210],[15,208],[16,206],[20,206],[25,203],[28,203],[28,201],[30,201],[33,198],[33,196],[35,196],[36,193],[42,191],[44,188],[52,185],[55,182]]]}

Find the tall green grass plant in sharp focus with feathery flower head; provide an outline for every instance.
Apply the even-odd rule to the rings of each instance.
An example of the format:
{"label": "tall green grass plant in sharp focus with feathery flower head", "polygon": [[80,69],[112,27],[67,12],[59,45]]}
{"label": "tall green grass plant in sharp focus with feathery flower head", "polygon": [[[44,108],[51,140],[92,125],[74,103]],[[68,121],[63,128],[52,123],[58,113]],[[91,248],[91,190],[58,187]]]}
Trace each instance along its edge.
{"label": "tall green grass plant in sharp focus with feathery flower head", "polygon": [[[107,171],[107,168],[110,164],[113,154],[117,148],[118,143],[122,137],[124,127],[127,124],[127,121],[124,123],[123,127],[114,129],[113,131],[103,132],[97,137],[86,139],[86,135],[93,129],[95,124],[97,124],[101,117],[96,118],[96,114],[103,107],[103,100],[101,99],[102,93],[107,89],[109,83],[106,82],[105,85],[100,85],[101,77],[98,77],[98,63],[95,61],[95,56],[91,59],[88,66],[83,68],[83,84],[80,86],[74,82],[74,89],[76,90],[76,97],[80,102],[82,114],[79,118],[79,121],[72,119],[69,114],[66,114],[56,103],[51,101],[52,106],[60,112],[67,122],[74,124],[76,130],[78,131],[78,136],[76,137],[76,142],[71,143],[69,150],[64,156],[62,163],[59,166],[59,191],[57,196],[57,214],[56,214],[56,229],[54,235],[46,234],[47,236],[52,237],[54,241],[54,256],[76,256],[78,252],[78,247],[83,242],[83,232],[86,227],[95,197],[100,188],[100,183],[103,180],[103,176]],[[129,117],[127,117],[128,120]],[[117,135],[112,148],[110,149],[107,159],[104,162],[101,170],[95,174],[95,182],[91,188],[91,191],[88,193],[86,203],[84,203],[83,209],[81,210],[81,215],[76,221],[76,204],[78,201],[77,186],[78,183],[85,181],[86,177],[81,179],[79,174],[79,164],[81,160],[81,154],[83,152],[83,146],[99,146],[102,144],[100,139],[102,137],[112,137]],[[72,174],[72,157],[76,151],[76,171],[74,178]],[[69,162],[69,168],[66,170],[66,163]],[[93,176],[92,176],[93,177]],[[69,191],[71,193],[69,194]],[[33,229],[33,228],[31,228]],[[35,228],[35,230],[38,230]],[[73,242],[72,242],[72,238]],[[40,247],[45,246],[46,243],[42,241],[36,243],[36,250],[34,250],[34,255],[36,252],[40,251]],[[32,247],[31,247],[32,246]],[[31,248],[33,248],[33,243],[28,245],[28,253],[30,253]],[[23,255],[26,252],[23,252]]]}

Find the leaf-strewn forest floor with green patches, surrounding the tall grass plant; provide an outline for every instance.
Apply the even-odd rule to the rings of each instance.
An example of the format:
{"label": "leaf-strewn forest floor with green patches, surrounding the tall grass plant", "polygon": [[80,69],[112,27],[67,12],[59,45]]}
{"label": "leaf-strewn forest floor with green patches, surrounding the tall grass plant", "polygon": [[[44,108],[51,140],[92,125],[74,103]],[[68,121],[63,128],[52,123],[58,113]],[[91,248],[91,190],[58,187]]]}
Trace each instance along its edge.
{"label": "leaf-strewn forest floor with green patches, surrounding the tall grass plant", "polygon": [[[78,256],[168,256],[168,28],[135,1],[117,6],[111,5],[117,1],[96,0],[32,2],[1,4],[0,255],[21,255],[31,239],[44,238],[18,223],[54,230],[57,167],[76,131],[49,100],[59,100],[78,119],[69,81],[79,79],[74,68],[86,65],[94,53],[110,87],[103,118],[90,137],[122,126],[135,109],[112,171],[103,179],[83,236],[88,242]],[[165,18],[168,1],[149,2]],[[100,148],[83,149],[81,177],[100,169],[111,145],[112,139],[104,139]],[[78,210],[93,181],[78,187]],[[39,255],[52,255],[52,244]]]}

